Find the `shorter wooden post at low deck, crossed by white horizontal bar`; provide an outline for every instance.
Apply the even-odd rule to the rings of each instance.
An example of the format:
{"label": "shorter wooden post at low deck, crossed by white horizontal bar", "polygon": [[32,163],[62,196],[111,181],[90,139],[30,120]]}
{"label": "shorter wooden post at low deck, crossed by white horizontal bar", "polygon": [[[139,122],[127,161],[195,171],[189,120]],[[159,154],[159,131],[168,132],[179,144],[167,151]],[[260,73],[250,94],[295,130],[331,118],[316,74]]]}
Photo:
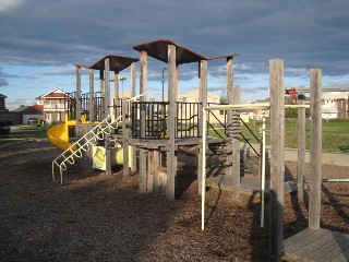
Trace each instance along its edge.
{"label": "shorter wooden post at low deck, crossed by white horizontal bar", "polygon": [[[232,104],[240,104],[240,86],[233,86]],[[231,122],[231,169],[232,169],[232,199],[239,200],[240,198],[240,114],[239,111],[232,111]]]}

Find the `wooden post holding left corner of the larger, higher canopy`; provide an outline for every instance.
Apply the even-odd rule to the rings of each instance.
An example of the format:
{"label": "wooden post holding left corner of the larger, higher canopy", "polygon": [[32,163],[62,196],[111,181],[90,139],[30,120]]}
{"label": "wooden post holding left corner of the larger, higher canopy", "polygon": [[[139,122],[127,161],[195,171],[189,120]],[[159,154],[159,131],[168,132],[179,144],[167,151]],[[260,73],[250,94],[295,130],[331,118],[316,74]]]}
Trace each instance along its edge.
{"label": "wooden post holding left corner of the larger, higher canopy", "polygon": [[[141,102],[146,102],[147,97],[147,52],[141,51],[141,78],[140,78],[140,94],[143,94],[141,96]],[[141,138],[145,136],[145,119],[146,118],[146,111],[145,107],[141,108]],[[147,191],[146,188],[146,181],[147,181],[147,159],[146,159],[146,151],[143,148],[140,148],[140,192],[145,193]]]}

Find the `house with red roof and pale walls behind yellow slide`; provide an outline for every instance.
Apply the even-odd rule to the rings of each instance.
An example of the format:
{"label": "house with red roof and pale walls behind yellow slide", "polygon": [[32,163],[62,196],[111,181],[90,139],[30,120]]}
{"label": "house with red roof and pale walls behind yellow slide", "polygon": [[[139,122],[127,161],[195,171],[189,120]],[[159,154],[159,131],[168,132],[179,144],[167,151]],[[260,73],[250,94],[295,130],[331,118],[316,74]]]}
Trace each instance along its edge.
{"label": "house with red roof and pale walls behind yellow slide", "polygon": [[44,120],[48,123],[64,121],[65,109],[64,99],[67,93],[60,88],[55,88],[39,97],[36,97],[37,106],[43,106]]}

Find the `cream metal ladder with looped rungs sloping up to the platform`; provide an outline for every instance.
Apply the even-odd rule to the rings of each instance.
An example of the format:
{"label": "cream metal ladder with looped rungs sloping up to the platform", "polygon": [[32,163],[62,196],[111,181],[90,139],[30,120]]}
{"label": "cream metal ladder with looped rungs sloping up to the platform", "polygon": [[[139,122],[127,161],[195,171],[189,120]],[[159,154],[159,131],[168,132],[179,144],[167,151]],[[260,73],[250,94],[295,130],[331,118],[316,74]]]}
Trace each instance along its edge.
{"label": "cream metal ladder with looped rungs sloping up to the platform", "polygon": [[96,145],[98,140],[104,140],[106,134],[110,134],[111,130],[117,129],[122,122],[122,117],[118,117],[115,120],[108,116],[105,120],[89,130],[84,136],[73,143],[68,150],[60,154],[52,162],[52,179],[55,177],[55,167],[57,166],[60,171],[61,183],[63,183],[63,171],[67,170],[67,164],[74,165],[75,158],[82,158],[84,152],[88,152],[92,145]]}

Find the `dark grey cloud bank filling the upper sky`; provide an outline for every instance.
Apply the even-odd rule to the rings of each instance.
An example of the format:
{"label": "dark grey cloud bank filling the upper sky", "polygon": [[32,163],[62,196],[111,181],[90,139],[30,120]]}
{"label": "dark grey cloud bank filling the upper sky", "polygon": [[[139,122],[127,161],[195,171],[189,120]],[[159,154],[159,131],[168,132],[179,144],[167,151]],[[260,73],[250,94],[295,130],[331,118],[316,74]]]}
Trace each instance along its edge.
{"label": "dark grey cloud bank filling the upper sky", "polygon": [[170,38],[206,57],[241,53],[237,73],[265,72],[269,59],[284,58],[294,70],[341,75],[349,72],[348,9],[346,0],[32,0],[2,13],[0,56],[12,64],[88,64],[106,53],[139,56],[133,45]]}

